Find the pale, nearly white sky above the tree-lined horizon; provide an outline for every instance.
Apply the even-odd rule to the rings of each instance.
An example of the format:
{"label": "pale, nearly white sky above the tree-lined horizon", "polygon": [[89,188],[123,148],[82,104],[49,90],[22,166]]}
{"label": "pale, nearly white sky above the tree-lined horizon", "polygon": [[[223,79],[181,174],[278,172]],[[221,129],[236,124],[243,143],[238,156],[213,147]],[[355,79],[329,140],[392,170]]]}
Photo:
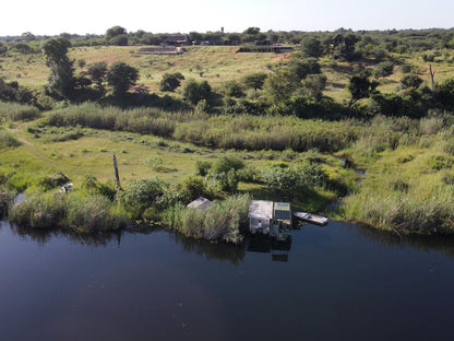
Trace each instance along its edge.
{"label": "pale, nearly white sky above the tree-lined horizon", "polygon": [[453,0],[12,0],[0,11],[0,36],[454,27]]}

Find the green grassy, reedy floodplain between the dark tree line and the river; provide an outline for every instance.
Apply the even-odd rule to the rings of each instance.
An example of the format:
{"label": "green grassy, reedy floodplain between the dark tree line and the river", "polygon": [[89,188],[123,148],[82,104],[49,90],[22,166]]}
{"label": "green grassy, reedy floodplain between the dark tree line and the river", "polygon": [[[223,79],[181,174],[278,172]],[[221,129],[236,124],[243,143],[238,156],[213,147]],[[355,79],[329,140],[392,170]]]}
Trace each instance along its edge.
{"label": "green grassy, reedy floodplain between the dark tree line and the river", "polygon": [[[71,117],[87,108],[93,107],[74,106],[56,113]],[[99,117],[113,115],[94,108]],[[145,111],[118,110],[115,115],[121,118]],[[205,114],[166,116],[166,111],[159,111],[156,119],[174,121],[175,134],[157,138],[113,128],[83,128],[79,121],[56,127],[49,121],[56,113],[32,121],[9,122],[1,129],[0,186],[11,192],[25,190],[27,196],[36,191],[31,208],[48,205],[44,212],[52,211],[49,202],[55,201],[57,216],[71,213],[46,222],[53,213],[31,215],[32,209],[26,209],[24,216],[43,220],[31,221],[29,225],[58,221],[81,231],[121,228],[135,221],[176,225],[168,216],[166,221],[164,213],[177,204],[184,207],[200,196],[223,201],[234,193],[248,193],[252,199],[290,201],[301,211],[383,230],[454,233],[454,126],[449,114],[422,119],[377,116],[369,121],[335,124],[296,117],[218,115],[203,124],[206,134],[199,134],[204,139],[198,140],[187,132],[194,133]],[[333,130],[337,130],[335,134],[331,134]],[[259,132],[260,143],[268,143],[270,149],[249,149]],[[327,136],[331,138],[326,140]],[[227,137],[235,138],[234,145],[246,149],[222,148]],[[285,149],[289,137],[301,151]],[[199,142],[188,142],[192,140]],[[315,149],[318,145],[320,149]],[[117,154],[124,191],[118,191],[112,183],[112,153]],[[68,208],[59,207],[61,202],[46,193],[62,186],[51,180],[60,172],[74,184],[74,197],[79,196],[74,203],[67,203],[71,205]],[[75,204],[77,200],[85,205]],[[338,201],[343,204],[330,210]],[[104,213],[84,221],[81,212],[88,212],[92,205]],[[112,227],[94,222],[98,216],[108,221],[109,214],[118,222]],[[25,223],[22,219],[17,222]]]}

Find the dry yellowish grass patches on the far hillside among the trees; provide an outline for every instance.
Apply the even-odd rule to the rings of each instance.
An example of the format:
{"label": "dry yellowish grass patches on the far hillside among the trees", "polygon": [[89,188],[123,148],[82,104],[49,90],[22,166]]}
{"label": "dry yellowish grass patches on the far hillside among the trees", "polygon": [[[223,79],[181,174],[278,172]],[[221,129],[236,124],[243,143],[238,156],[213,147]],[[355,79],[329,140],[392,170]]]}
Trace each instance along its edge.
{"label": "dry yellowish grass patches on the far hillside among the trees", "polygon": [[[148,87],[150,92],[162,94],[158,83],[165,72],[181,72],[186,80],[206,80],[213,89],[227,80],[239,80],[243,75],[253,72],[271,72],[273,66],[286,62],[291,54],[237,54],[235,46],[188,46],[182,55],[147,55],[140,54],[140,46],[97,46],[75,47],[69,51],[73,60],[83,59],[86,66],[83,69],[74,64],[76,72],[85,71],[91,64],[106,61],[108,64],[115,61],[124,61],[133,66],[140,72],[138,84]],[[434,59],[432,68],[435,70],[435,81],[442,82],[451,78],[454,66],[451,62],[453,52],[449,49],[438,51],[439,57]],[[423,61],[422,54],[391,55],[398,60],[397,63],[410,63],[417,70],[417,74],[430,85],[429,62]],[[348,78],[354,68],[359,63],[372,69],[373,61],[363,60],[350,64],[348,62],[332,61],[328,57],[319,60],[322,72],[327,77],[325,95],[333,97],[338,103],[347,103],[349,94],[346,91]],[[17,81],[21,85],[32,89],[41,89],[47,83],[49,69],[46,67],[44,56],[40,54],[22,55],[10,52],[1,59],[1,75],[7,81]],[[394,68],[394,73],[380,79],[381,92],[395,92],[404,73],[399,66]],[[177,96],[181,87],[176,91]]]}

